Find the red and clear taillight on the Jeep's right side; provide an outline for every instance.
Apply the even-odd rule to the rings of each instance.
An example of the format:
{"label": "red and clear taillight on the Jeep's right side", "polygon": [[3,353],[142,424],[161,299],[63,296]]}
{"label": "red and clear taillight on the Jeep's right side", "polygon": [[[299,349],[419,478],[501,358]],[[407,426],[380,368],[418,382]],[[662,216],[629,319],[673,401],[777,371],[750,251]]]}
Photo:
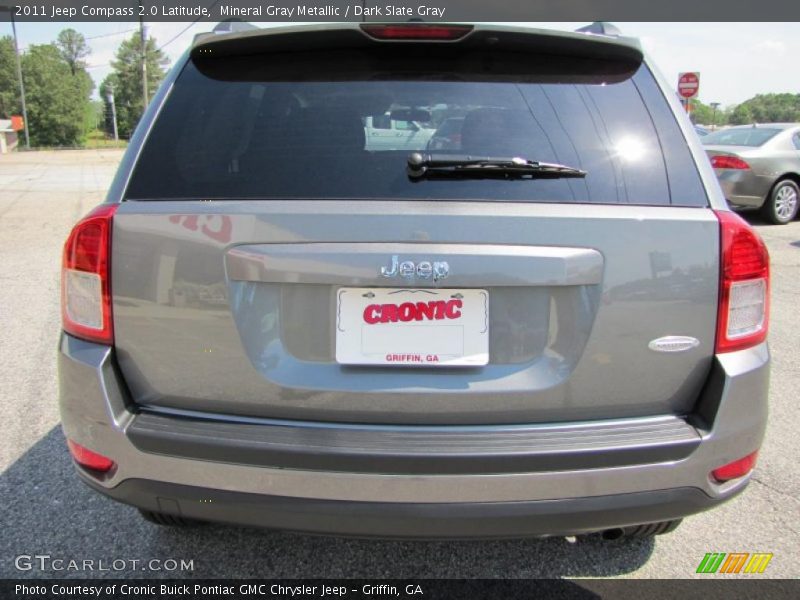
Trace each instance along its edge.
{"label": "red and clear taillight on the Jeep's right side", "polygon": [[716,352],[760,344],[769,327],[769,253],[739,215],[718,211],[721,245]]}

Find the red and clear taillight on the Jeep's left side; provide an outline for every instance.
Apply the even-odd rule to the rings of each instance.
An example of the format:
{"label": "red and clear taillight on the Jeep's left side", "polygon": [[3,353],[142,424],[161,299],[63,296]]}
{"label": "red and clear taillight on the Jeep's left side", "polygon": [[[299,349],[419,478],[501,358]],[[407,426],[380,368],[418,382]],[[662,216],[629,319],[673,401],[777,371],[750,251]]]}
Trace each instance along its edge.
{"label": "red and clear taillight on the Jeep's left side", "polygon": [[116,204],[81,219],[64,244],[61,318],[64,331],[92,342],[114,343],[111,320],[111,220]]}

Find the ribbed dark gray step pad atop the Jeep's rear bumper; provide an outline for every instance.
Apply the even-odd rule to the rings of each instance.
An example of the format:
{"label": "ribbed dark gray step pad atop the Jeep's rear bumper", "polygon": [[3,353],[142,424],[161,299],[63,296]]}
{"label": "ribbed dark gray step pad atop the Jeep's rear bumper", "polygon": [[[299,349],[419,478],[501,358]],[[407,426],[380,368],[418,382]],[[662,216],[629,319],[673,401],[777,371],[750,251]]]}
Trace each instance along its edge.
{"label": "ribbed dark gray step pad atop the Jeep's rear bumper", "polygon": [[679,417],[550,425],[368,426],[143,409],[126,430],[150,454],[258,467],[385,475],[576,471],[687,458],[697,430]]}

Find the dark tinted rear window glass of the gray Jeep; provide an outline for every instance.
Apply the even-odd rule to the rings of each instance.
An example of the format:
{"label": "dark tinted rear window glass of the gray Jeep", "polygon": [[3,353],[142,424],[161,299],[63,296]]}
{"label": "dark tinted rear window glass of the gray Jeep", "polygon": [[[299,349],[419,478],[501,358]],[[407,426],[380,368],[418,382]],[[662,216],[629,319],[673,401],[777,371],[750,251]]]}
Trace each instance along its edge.
{"label": "dark tinted rear window glass of the gray Jeep", "polygon": [[[560,75],[574,71],[572,59],[526,57],[525,73],[481,77],[475,69],[459,76],[458,64],[418,61],[396,73],[389,63],[376,70],[374,57],[351,57],[346,73],[331,76],[306,58],[311,66],[293,63],[302,76],[272,73],[281,61],[268,56],[218,59],[213,68],[190,60],[127,198],[707,204],[686,140],[645,66],[613,78],[597,61],[596,74],[583,65],[576,78]],[[432,151],[437,135],[452,142],[434,146],[437,154],[524,157],[588,174],[409,180],[408,155]]]}

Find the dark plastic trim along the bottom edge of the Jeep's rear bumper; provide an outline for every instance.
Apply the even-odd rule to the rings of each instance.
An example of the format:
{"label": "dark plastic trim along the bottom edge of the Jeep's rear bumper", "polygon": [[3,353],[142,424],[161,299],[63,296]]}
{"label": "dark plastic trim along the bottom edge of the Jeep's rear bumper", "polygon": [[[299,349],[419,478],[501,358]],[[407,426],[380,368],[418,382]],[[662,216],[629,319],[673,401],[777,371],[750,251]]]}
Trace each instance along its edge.
{"label": "dark plastic trim along the bottom edge of the Jeep's rear bumper", "polygon": [[561,500],[416,504],[289,498],[146,479],[127,479],[107,489],[86,476],[82,479],[120,502],[187,518],[315,534],[410,539],[576,535],[678,519],[731,498],[711,498],[700,489],[682,487]]}

